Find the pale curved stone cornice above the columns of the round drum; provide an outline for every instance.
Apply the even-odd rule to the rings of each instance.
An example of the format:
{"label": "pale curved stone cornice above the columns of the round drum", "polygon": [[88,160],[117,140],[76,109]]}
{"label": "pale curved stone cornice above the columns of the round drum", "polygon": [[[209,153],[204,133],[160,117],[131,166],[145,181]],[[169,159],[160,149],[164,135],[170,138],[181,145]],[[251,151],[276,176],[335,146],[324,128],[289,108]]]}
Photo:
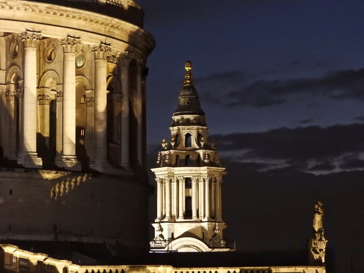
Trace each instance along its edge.
{"label": "pale curved stone cornice above the columns of the round drum", "polygon": [[[155,46],[153,36],[144,29],[99,13],[26,0],[0,0],[0,11],[0,31],[22,32],[26,22],[29,27],[42,31],[44,37],[61,39],[72,34],[82,37],[82,42],[89,45],[104,40],[115,50],[130,48],[139,58],[149,55]],[[73,32],[69,33],[70,30]],[[100,36],[107,38],[100,39]]]}

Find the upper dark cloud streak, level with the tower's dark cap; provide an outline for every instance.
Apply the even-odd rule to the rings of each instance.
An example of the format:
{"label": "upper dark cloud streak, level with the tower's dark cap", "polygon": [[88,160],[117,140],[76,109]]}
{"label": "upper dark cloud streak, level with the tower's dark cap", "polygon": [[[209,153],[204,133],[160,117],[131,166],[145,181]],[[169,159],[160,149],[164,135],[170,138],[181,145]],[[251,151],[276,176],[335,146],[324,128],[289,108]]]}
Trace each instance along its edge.
{"label": "upper dark cloud streak, level with the tower's dark cap", "polygon": [[273,106],[285,103],[292,95],[364,100],[364,68],[327,72],[320,78],[251,80],[252,75],[230,71],[199,78],[196,82],[208,90],[201,94],[208,93],[210,103],[226,107]]}

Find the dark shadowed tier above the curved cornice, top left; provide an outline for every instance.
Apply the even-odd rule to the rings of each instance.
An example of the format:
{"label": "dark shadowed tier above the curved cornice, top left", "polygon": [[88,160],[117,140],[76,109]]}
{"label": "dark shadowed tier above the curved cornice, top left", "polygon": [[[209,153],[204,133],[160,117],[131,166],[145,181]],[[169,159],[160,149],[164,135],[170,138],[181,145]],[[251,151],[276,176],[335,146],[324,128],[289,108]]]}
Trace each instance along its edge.
{"label": "dark shadowed tier above the curved cornice, top left", "polygon": [[143,27],[144,12],[135,1],[120,0],[29,0],[64,7],[83,9],[118,18]]}

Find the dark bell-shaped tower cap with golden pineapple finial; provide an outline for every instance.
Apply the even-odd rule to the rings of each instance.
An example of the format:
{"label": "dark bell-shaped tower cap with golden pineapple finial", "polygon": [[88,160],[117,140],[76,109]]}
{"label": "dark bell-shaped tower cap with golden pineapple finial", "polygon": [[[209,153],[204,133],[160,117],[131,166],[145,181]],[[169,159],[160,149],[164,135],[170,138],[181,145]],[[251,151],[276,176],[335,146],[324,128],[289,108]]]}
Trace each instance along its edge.
{"label": "dark bell-shaped tower cap with golden pineapple finial", "polygon": [[179,102],[177,109],[174,111],[173,115],[200,115],[204,116],[205,112],[201,109],[201,104],[198,100],[198,94],[196,88],[193,86],[192,81],[192,63],[187,61],[185,63],[186,75],[183,88],[179,93]]}

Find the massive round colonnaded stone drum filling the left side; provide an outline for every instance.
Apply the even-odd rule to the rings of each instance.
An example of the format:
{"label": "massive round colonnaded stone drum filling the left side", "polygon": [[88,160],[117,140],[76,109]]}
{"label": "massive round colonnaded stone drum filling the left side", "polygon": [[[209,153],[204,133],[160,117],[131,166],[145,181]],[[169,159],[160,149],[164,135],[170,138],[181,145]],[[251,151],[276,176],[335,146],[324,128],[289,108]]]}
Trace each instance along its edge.
{"label": "massive round colonnaded stone drum filling the left side", "polygon": [[[110,5],[117,17],[94,12]],[[131,0],[0,1],[1,240],[145,244],[131,214],[150,194],[142,13]]]}

